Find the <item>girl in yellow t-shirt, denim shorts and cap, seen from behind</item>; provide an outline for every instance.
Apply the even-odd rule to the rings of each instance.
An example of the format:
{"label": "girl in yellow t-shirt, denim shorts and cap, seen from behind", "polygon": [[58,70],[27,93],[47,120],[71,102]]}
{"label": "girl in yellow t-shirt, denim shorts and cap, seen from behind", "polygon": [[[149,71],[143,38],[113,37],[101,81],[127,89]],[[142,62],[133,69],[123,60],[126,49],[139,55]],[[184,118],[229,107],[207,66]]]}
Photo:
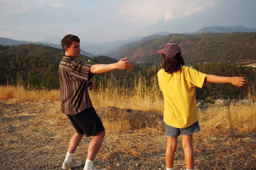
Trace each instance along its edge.
{"label": "girl in yellow t-shirt, denim shorts and cap, seen from behind", "polygon": [[181,49],[168,43],[157,53],[163,56],[162,69],[158,71],[158,83],[164,96],[164,122],[167,135],[166,169],[173,169],[177,137],[182,134],[186,169],[194,169],[193,134],[200,130],[196,107],[195,87],[202,88],[205,82],[231,83],[244,87],[244,77],[222,77],[204,74],[184,66]]}

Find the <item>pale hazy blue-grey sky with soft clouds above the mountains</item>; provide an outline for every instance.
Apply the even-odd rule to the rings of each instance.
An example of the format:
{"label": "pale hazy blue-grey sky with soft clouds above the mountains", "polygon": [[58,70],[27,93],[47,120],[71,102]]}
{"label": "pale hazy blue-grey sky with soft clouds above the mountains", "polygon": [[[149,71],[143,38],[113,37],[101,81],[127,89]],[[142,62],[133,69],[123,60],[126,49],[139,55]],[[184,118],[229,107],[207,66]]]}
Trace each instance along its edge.
{"label": "pale hazy blue-grey sky with soft clouds above the mountains", "polygon": [[0,0],[0,37],[41,41],[66,34],[108,42],[209,26],[256,28],[256,1]]}

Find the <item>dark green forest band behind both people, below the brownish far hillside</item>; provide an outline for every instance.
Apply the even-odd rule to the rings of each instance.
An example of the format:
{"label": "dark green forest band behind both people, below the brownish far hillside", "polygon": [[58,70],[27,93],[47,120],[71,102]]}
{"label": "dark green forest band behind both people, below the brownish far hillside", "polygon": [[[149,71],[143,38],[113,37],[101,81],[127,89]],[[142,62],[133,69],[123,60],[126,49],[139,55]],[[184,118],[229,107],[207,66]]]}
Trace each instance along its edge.
{"label": "dark green forest band behind both people, below the brownish far hillside", "polygon": [[[0,45],[0,84],[7,83],[16,84],[18,80],[17,74],[22,78],[24,84],[34,87],[59,88],[59,62],[62,59],[63,51],[61,49],[43,46],[43,45],[18,45],[18,46],[1,46]],[[160,57],[160,56],[159,56]],[[98,56],[90,58],[80,56],[78,59],[90,64],[109,64],[118,60],[106,56]],[[134,84],[140,78],[147,82],[156,79],[156,73],[161,66],[155,67],[134,67],[130,71],[114,70],[104,74],[95,74],[93,80],[96,86],[106,84],[107,81],[117,80],[116,85]],[[195,64],[193,68],[206,73],[219,76],[243,76],[249,81],[256,78],[256,69],[252,67],[238,66],[238,64],[230,63],[207,63]],[[20,81],[20,80],[19,80]],[[157,83],[157,80],[156,80]],[[150,83],[149,83],[150,84]],[[158,88],[158,84],[155,84]],[[231,84],[213,84],[206,83],[200,89],[197,88],[197,98],[205,98],[212,95],[243,95],[247,93],[248,88],[237,88]]]}

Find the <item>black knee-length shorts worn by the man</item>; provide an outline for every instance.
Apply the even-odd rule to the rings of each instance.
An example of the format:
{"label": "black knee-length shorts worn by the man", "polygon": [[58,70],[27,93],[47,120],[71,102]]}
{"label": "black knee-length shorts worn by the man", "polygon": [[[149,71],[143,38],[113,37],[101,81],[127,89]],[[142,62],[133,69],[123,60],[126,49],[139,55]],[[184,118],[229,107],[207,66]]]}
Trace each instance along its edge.
{"label": "black knee-length shorts worn by the man", "polygon": [[105,128],[93,107],[84,109],[75,115],[68,115],[72,125],[78,134],[85,134],[86,137],[97,135]]}

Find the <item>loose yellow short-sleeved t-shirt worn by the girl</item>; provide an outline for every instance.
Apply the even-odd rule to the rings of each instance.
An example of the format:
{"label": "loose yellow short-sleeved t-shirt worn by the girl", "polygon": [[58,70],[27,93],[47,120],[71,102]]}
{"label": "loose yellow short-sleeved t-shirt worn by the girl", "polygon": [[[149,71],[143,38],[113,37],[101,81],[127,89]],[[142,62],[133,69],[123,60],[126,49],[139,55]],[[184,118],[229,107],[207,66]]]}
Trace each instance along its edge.
{"label": "loose yellow short-sleeved t-shirt worn by the girl", "polygon": [[196,86],[202,88],[206,74],[187,66],[182,72],[168,74],[163,69],[157,73],[160,90],[164,96],[164,122],[185,128],[198,121]]}

